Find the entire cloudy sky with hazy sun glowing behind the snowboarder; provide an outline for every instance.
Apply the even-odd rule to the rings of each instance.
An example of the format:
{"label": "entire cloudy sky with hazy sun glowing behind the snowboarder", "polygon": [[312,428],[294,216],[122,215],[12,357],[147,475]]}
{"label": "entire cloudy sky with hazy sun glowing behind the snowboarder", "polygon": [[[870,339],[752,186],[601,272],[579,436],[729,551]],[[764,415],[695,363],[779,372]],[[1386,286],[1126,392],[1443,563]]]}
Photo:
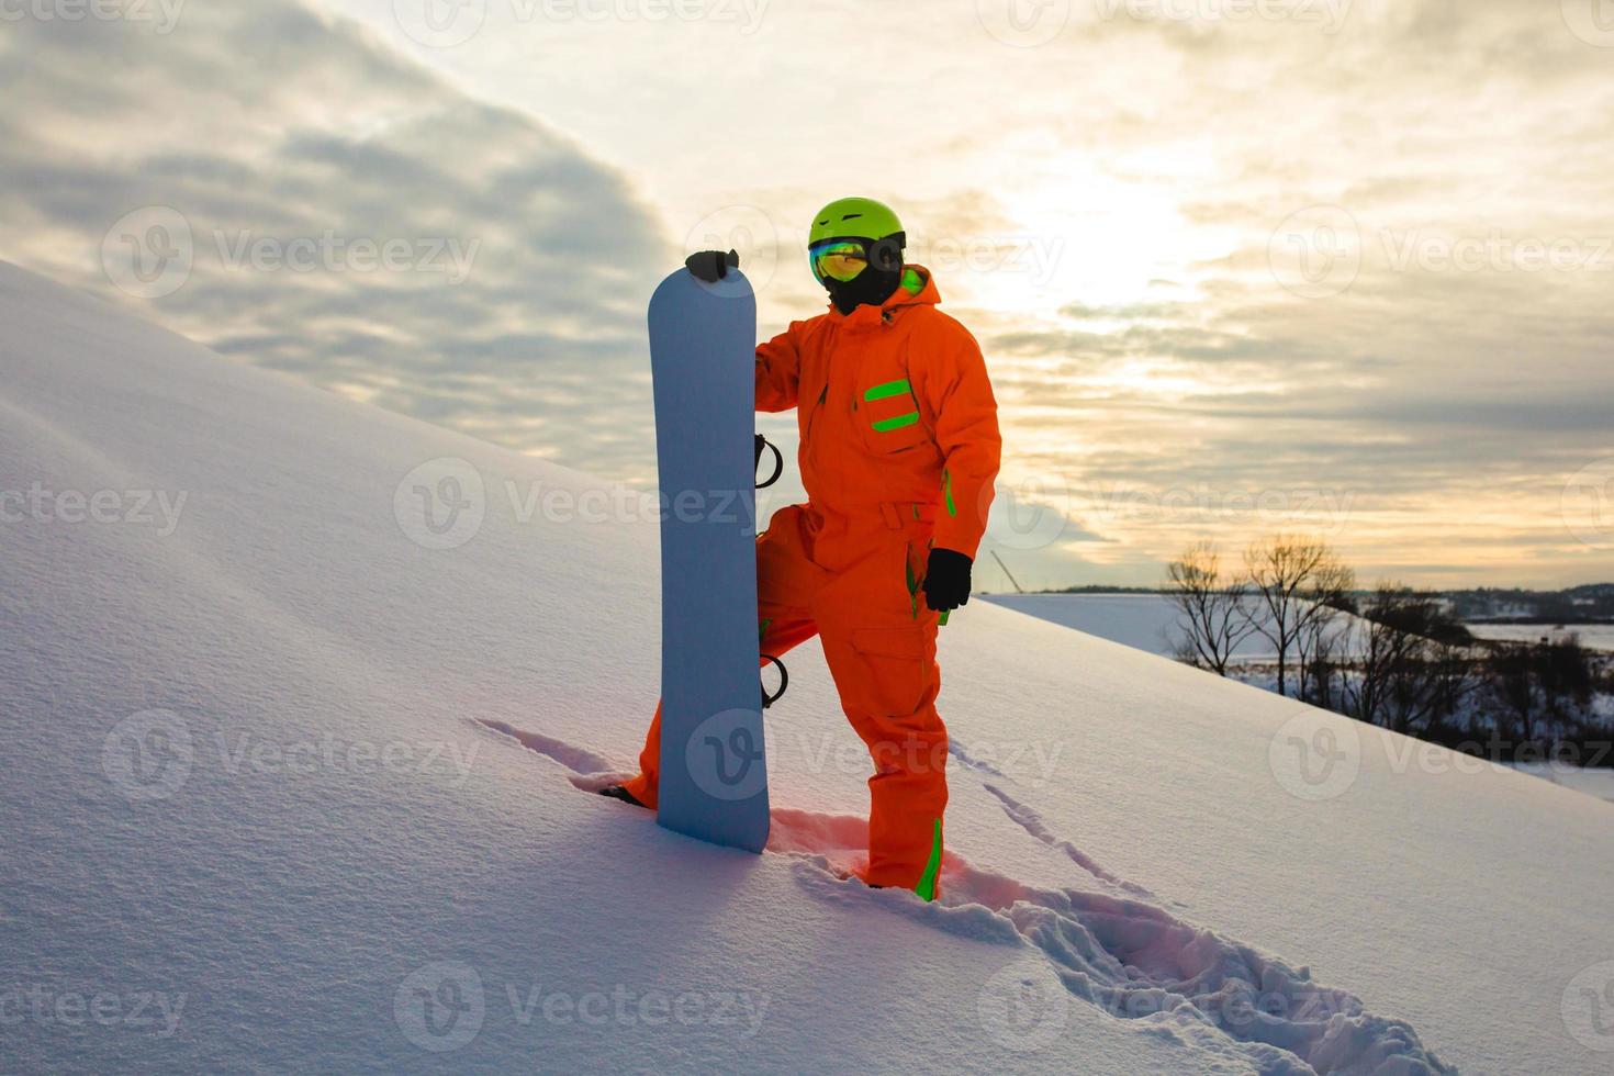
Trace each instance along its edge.
{"label": "entire cloudy sky with hazy sun glowing behind the snowboarder", "polygon": [[978,586],[1614,578],[1609,0],[0,0],[0,258],[607,482],[657,279],[771,336],[862,194],[993,373]]}

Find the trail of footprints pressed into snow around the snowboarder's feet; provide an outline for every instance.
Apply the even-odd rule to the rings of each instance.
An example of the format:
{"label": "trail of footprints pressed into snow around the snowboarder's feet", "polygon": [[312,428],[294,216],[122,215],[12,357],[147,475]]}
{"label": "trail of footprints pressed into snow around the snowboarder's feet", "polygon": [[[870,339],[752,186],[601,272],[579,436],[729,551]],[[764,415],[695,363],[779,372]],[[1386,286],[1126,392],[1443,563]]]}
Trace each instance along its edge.
{"label": "trail of footprints pressed into snow around the snowboarder's feet", "polygon": [[[502,721],[478,721],[565,766],[578,789],[594,792],[623,779],[615,763],[587,749]],[[1006,778],[989,765],[965,761],[978,774]],[[1067,997],[1099,1007],[1139,1029],[1191,1042],[1269,1076],[1415,1076],[1456,1073],[1428,1050],[1411,1024],[1377,1016],[1361,999],[1319,986],[1304,966],[1262,953],[1186,923],[1154,903],[1143,886],[1099,866],[1043,816],[983,779],[988,794],[1028,836],[1060,852],[1106,892],[1041,889],[972,866],[947,853],[943,897],[920,903],[896,890],[852,882],[867,850],[868,824],[852,815],[775,807],[768,853],[796,857],[802,884],[831,902],[876,900],[952,934],[1025,945],[1035,965],[1015,965],[1025,979],[1057,981]],[[985,997],[985,995],[983,995]]]}

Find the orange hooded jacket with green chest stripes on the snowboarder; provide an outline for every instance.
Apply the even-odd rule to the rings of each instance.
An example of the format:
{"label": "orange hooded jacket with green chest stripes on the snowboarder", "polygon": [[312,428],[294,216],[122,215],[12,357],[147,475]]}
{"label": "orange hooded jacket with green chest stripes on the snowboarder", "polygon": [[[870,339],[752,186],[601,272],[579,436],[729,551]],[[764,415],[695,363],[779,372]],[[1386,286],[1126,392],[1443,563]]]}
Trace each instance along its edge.
{"label": "orange hooded jacket with green chest stripes on the snowboarder", "polygon": [[809,505],[935,519],[938,547],[975,557],[1002,452],[997,402],[970,331],[909,266],[881,307],[831,308],[757,347],[757,410],[797,408]]}

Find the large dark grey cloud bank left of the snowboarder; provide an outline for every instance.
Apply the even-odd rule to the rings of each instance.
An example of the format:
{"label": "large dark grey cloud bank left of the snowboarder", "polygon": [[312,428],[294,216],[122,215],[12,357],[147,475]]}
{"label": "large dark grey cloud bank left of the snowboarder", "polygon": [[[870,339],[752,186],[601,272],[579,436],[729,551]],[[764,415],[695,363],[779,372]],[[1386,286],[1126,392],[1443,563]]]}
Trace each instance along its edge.
{"label": "large dark grey cloud bank left of the snowboarder", "polygon": [[[292,0],[6,42],[0,255],[226,355],[646,474],[642,308],[671,250],[623,174]],[[131,281],[182,271],[165,237],[182,282]]]}

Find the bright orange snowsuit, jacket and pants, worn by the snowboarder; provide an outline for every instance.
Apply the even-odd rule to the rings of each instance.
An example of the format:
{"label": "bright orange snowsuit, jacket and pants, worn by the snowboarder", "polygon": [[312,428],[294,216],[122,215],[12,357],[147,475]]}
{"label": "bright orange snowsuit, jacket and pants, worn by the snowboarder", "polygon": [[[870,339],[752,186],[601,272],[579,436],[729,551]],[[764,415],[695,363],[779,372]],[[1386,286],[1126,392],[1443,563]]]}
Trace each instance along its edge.
{"label": "bright orange snowsuit, jacket and pants, worn by the snowboarder", "polygon": [[[947,729],[936,713],[931,547],[975,557],[997,474],[997,403],[968,329],[909,266],[883,307],[828,313],[757,347],[757,410],[797,410],[807,503],[757,537],[762,653],[818,636],[847,719],[868,747],[873,886],[936,895]],[[655,807],[660,719],[628,790]]]}

